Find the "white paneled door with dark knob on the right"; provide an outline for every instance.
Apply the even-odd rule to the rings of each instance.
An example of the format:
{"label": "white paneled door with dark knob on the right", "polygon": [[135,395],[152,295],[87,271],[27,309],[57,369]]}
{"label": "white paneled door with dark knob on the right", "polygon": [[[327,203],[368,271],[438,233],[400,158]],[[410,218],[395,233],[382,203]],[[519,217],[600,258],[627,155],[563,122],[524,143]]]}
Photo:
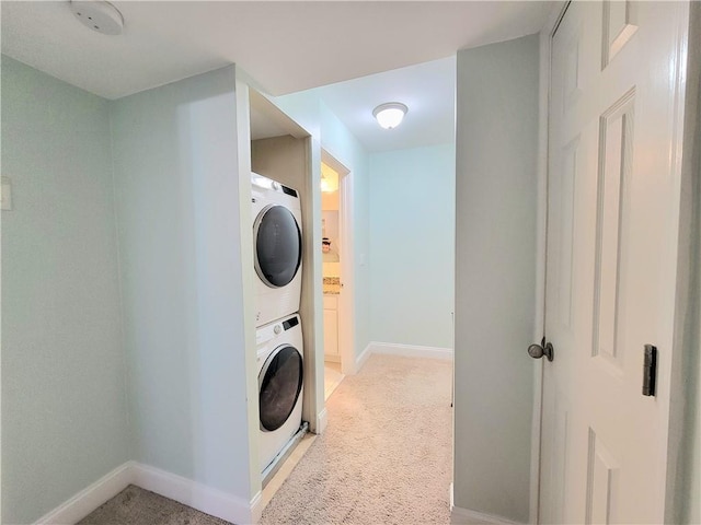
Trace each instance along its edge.
{"label": "white paneled door with dark knob on the right", "polygon": [[665,521],[685,24],[572,2],[552,37],[541,523]]}

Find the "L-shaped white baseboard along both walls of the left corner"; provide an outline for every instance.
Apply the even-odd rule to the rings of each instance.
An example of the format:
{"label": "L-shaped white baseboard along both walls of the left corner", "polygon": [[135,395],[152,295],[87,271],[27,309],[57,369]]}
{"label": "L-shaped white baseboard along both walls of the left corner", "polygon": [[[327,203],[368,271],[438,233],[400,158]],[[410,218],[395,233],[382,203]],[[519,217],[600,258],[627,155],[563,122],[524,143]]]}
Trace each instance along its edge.
{"label": "L-shaped white baseboard along both walls of the left corner", "polygon": [[261,492],[249,502],[192,479],[127,462],[42,516],[35,525],[70,525],[79,522],[129,485],[240,525],[257,523],[263,513]]}

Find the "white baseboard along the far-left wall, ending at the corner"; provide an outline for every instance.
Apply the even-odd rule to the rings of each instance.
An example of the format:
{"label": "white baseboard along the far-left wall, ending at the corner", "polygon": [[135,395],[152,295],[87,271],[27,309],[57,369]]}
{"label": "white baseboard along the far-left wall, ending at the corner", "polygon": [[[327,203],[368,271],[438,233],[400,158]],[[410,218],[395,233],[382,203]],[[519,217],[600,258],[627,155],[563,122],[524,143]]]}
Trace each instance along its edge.
{"label": "white baseboard along the far-left wall, ending at the corner", "polygon": [[81,521],[100,505],[111,500],[129,483],[131,483],[131,468],[134,462],[118,466],[91,486],[84,488],[71,499],[39,517],[35,524],[58,525],[73,524]]}

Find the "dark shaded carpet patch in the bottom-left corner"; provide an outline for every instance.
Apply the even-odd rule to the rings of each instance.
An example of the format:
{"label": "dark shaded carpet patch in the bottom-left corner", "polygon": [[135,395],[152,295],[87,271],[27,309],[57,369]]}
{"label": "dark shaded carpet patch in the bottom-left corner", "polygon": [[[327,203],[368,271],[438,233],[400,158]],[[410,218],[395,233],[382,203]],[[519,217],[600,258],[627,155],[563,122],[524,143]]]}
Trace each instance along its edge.
{"label": "dark shaded carpet patch in the bottom-left corner", "polygon": [[78,525],[230,525],[130,485],[104,505],[78,522]]}

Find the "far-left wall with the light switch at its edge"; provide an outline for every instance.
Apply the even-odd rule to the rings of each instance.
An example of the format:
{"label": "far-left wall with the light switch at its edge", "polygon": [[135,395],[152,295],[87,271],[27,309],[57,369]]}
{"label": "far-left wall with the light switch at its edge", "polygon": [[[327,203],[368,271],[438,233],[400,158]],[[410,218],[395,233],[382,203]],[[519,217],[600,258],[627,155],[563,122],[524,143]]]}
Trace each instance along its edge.
{"label": "far-left wall with the light switch at its edge", "polygon": [[107,101],[2,56],[2,523],[129,459]]}

